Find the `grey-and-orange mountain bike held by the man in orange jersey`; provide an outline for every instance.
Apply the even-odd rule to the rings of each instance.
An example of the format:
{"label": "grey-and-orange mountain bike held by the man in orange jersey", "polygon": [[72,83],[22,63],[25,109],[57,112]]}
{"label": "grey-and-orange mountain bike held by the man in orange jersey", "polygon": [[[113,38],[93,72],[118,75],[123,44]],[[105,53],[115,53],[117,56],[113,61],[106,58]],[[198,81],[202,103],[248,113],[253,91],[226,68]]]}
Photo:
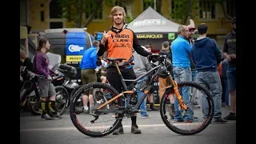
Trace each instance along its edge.
{"label": "grey-and-orange mountain bike held by the man in orange jersey", "polygon": [[[157,80],[158,74],[167,74],[167,78],[169,78],[170,86],[166,86],[166,92],[163,94],[161,102],[160,102],[160,114],[162,121],[165,125],[174,133],[182,134],[182,135],[192,135],[198,134],[202,130],[205,130],[207,126],[209,126],[213,115],[214,115],[214,101],[210,94],[209,90],[206,90],[205,87],[199,85],[196,82],[175,82],[173,78],[170,76],[170,72],[167,71],[168,66],[172,66],[170,59],[162,56],[162,55],[150,55],[147,57],[150,65],[153,67],[152,70],[148,71],[146,74],[143,74],[139,78],[136,79],[124,79],[122,77],[121,69],[125,68],[126,65],[122,62],[125,58],[106,58],[110,62],[110,66],[115,66],[118,74],[120,76],[120,80],[122,82],[123,91],[122,93],[118,93],[114,87],[100,82],[86,84],[81,86],[73,96],[73,99],[70,103],[70,118],[73,122],[74,126],[82,133],[86,134],[90,137],[103,137],[108,134],[111,134],[114,130],[118,128],[119,122],[122,121],[122,118],[130,118],[134,115],[134,113],[138,113],[141,110],[139,107],[142,104],[143,99],[146,98],[146,95],[149,93],[152,84]],[[138,87],[137,82],[142,80],[142,78],[146,79],[142,82],[142,85]],[[132,82],[129,86],[126,86],[126,81]],[[197,89],[202,94],[202,99],[204,99],[204,106],[207,109],[198,110],[194,109],[190,106],[190,102],[184,102],[182,98],[182,94],[179,92],[183,87],[190,86],[190,88]],[[77,110],[80,109],[76,103],[78,99],[81,98],[82,93],[87,90],[100,89],[102,90],[102,99],[105,101],[101,103],[94,103],[94,106],[91,107],[90,113],[78,113]],[[143,91],[142,98],[138,99],[137,102],[134,102],[134,99],[137,98],[136,90]],[[111,99],[107,99],[106,94],[111,94]],[[178,98],[178,107],[179,111],[182,115],[187,112],[193,112],[194,115],[198,115],[199,112],[203,112],[200,116],[202,118],[198,118],[197,122],[174,122],[171,118],[168,118],[168,110],[167,106],[170,103],[169,98],[171,95],[174,95]],[[126,105],[123,104],[120,106],[114,106],[110,104],[115,100],[125,101]],[[166,112],[167,110],[167,112]],[[113,114],[120,114],[122,118],[113,118]],[[106,118],[112,118],[113,120],[109,120]],[[84,120],[81,120],[84,119]],[[102,122],[106,122],[106,125],[103,125]],[[90,126],[84,126],[84,125]],[[190,126],[191,125],[191,126]],[[185,127],[185,128],[184,128]],[[190,128],[190,129],[188,129]]]}

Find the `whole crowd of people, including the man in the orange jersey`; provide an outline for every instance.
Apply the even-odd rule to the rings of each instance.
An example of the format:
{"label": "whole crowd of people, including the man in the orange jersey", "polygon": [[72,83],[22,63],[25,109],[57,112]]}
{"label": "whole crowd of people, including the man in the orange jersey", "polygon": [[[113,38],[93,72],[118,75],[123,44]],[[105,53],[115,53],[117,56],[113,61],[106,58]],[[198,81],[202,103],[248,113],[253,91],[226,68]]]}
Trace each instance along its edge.
{"label": "whole crowd of people, including the man in the orange jersey", "polygon": [[[110,30],[104,31],[100,42],[94,41],[92,46],[84,52],[82,61],[80,62],[83,85],[91,82],[107,82],[114,89],[118,90],[119,93],[122,93],[123,87],[122,82],[119,80],[118,72],[114,66],[107,65],[104,57],[126,58],[124,62],[133,63],[133,65],[120,70],[125,79],[136,79],[146,74],[147,71],[152,70],[146,56],[153,54],[151,52],[153,47],[150,45],[141,46],[139,44],[134,31],[125,27],[125,18],[125,10],[121,6],[114,6],[110,12],[110,19],[113,21],[113,26],[110,27]],[[159,54],[166,55],[166,58],[170,58],[173,64],[173,70],[169,71],[176,82],[194,81],[210,90],[214,99],[213,122],[216,123],[236,119],[236,18],[233,18],[231,23],[233,30],[226,35],[222,52],[217,42],[206,36],[209,29],[206,23],[198,25],[197,29],[191,25],[179,26],[178,37],[172,42],[162,42],[162,49],[159,52]],[[197,39],[193,38],[195,30],[198,30],[199,37]],[[116,35],[120,37],[115,37]],[[113,40],[113,38],[116,40]],[[122,38],[129,38],[129,41],[122,42],[120,40]],[[51,78],[50,73],[56,73],[48,68],[49,59],[46,56],[46,50],[49,49],[49,41],[42,38],[39,41],[38,52],[34,56],[35,73],[45,75],[47,78],[38,79],[38,86],[41,90],[39,109],[42,115],[41,118],[45,120],[61,118],[54,102],[56,92],[53,84],[49,81]],[[21,51],[21,58],[25,59],[24,64],[30,61],[26,60],[24,51]],[[138,82],[138,86],[142,84],[142,81]],[[168,86],[169,82],[165,74],[159,75],[158,82],[158,96],[160,101],[165,92],[162,88]],[[126,82],[126,86],[128,85],[130,85],[130,82]],[[142,91],[137,90],[137,93],[138,99],[141,98],[143,95]],[[154,89],[150,90],[147,98],[142,102],[140,107],[142,118],[150,118],[150,114],[148,114],[148,109],[146,108],[146,101],[150,104],[150,110],[158,110],[154,107],[153,93]],[[182,88],[182,98],[186,104],[190,104],[190,89],[186,87]],[[92,90],[85,92],[82,100],[83,111],[90,113],[90,107],[94,105]],[[88,102],[90,103],[89,106],[87,104]],[[230,114],[225,118],[222,118],[222,103],[230,106]],[[205,103],[202,97],[202,113],[207,115],[206,106],[204,105]],[[122,99],[118,99],[118,106],[124,106]],[[170,98],[170,111],[173,115],[174,122],[198,121],[191,108],[182,116],[181,111],[178,109],[178,99],[175,97]],[[121,114],[115,115],[115,118],[120,117],[122,117]],[[121,122],[113,134],[123,133]],[[131,133],[142,133],[137,125],[137,114],[131,117]]]}

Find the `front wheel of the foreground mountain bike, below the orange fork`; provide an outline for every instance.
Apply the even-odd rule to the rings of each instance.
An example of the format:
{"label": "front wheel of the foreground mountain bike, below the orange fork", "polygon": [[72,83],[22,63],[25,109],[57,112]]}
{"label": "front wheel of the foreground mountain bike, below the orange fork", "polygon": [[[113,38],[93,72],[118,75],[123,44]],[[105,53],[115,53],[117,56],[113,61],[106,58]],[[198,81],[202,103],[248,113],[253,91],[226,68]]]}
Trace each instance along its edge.
{"label": "front wheel of the foreground mountain bike, below the orange fork", "polygon": [[[160,114],[162,121],[166,126],[177,134],[193,135],[198,134],[210,124],[214,116],[214,100],[209,90],[196,82],[178,82],[178,90],[182,95],[183,101],[190,110],[181,110],[178,106],[178,100],[175,96],[174,105],[170,104],[170,95],[174,94],[174,90],[169,88],[162,95],[160,102]],[[192,90],[197,90],[202,101],[202,106],[194,106],[190,102]],[[182,94],[187,91],[187,94]],[[186,97],[186,98],[185,98]],[[192,95],[193,97],[193,95]],[[190,119],[191,118],[191,119]]]}

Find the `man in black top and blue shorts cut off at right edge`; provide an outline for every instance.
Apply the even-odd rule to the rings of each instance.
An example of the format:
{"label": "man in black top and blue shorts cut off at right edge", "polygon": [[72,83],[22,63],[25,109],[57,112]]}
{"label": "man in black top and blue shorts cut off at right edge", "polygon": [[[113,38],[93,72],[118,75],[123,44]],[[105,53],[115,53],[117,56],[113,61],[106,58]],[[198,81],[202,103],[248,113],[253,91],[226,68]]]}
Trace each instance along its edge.
{"label": "man in black top and blue shorts cut off at right edge", "polygon": [[226,120],[236,120],[236,17],[232,18],[231,22],[233,30],[229,34],[226,34],[223,47],[223,57],[228,61],[226,77],[230,90],[230,114],[224,118]]}

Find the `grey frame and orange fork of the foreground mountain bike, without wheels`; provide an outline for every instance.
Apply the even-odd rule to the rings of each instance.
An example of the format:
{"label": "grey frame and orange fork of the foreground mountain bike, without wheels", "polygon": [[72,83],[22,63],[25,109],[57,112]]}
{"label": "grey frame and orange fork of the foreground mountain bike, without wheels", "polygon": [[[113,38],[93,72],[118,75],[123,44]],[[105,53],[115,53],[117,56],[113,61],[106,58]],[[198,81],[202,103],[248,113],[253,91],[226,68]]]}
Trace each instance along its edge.
{"label": "grey frame and orange fork of the foreground mountain bike, without wheels", "polygon": [[[174,94],[176,94],[176,97],[178,98],[180,106],[182,107],[183,110],[188,110],[188,107],[186,106],[185,102],[183,102],[183,100],[182,100],[182,96],[178,92],[177,83],[174,82],[173,78],[170,75],[170,72],[167,71],[166,66],[162,62],[161,62],[160,65],[155,66],[152,70],[148,71],[146,74],[143,74],[142,76],[140,76],[139,78],[136,78],[136,79],[124,79],[122,77],[122,73],[120,72],[118,62],[113,62],[113,64],[115,65],[116,70],[118,70],[118,75],[119,75],[119,78],[122,82],[122,87],[123,87],[124,91],[121,94],[118,94],[118,95],[114,96],[114,98],[111,98],[109,101],[105,102],[102,106],[98,106],[98,108],[97,108],[98,111],[108,111],[108,112],[110,112],[110,110],[100,110],[100,109],[102,107],[108,105],[110,102],[113,102],[117,98],[119,98],[121,96],[124,96],[124,95],[126,95],[126,103],[127,103],[127,106],[129,107],[131,94],[134,94],[134,90],[128,90],[129,86],[133,86],[139,80],[141,80],[142,78],[145,78],[146,75],[151,74],[154,71],[156,71],[156,73],[152,75],[152,78],[150,79],[150,82],[146,85],[146,89],[143,91],[144,94],[138,100],[136,106],[130,107],[130,109],[133,110],[134,112],[139,112],[139,107],[142,105],[143,100],[146,98],[146,95],[149,93],[150,89],[152,88],[152,84],[157,80],[158,74],[161,74],[162,72],[165,72],[167,74],[167,78],[170,81],[170,86],[166,86],[165,89],[173,87]],[[126,86],[126,82],[132,82],[132,83],[129,86]],[[119,113],[122,114],[122,110],[123,110],[123,107],[120,107],[118,110],[113,110],[113,111],[117,112],[118,114]]]}

